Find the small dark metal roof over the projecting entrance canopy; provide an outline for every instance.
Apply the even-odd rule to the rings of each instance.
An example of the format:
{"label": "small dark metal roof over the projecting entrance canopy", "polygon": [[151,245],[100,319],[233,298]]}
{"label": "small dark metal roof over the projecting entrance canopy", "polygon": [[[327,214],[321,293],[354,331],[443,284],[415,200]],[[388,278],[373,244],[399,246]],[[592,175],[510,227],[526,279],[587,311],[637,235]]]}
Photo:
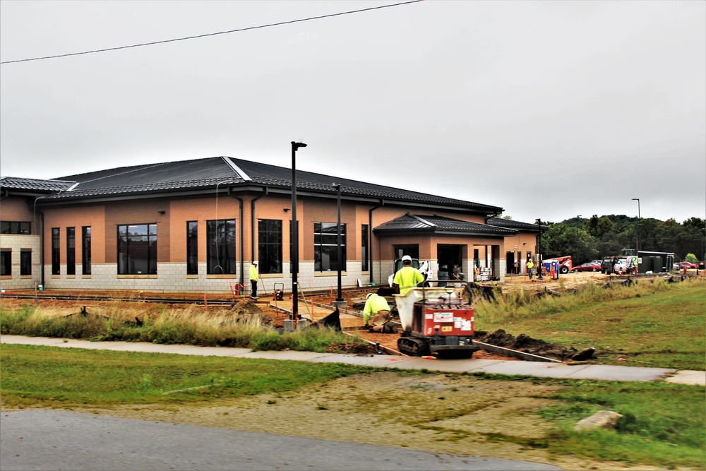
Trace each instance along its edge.
{"label": "small dark metal roof over the projecting entrance canopy", "polygon": [[438,215],[413,215],[410,213],[385,222],[373,229],[376,233],[431,232],[433,234],[477,234],[508,237],[517,234],[514,229],[468,222]]}

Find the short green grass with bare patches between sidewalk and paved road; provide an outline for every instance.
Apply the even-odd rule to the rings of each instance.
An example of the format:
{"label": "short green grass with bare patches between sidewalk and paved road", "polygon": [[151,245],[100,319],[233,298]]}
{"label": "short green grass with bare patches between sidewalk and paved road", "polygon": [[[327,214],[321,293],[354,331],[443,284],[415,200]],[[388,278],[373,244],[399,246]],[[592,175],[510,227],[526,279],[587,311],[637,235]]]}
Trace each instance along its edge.
{"label": "short green grass with bare patches between sidewalk and paved road", "polygon": [[[354,374],[373,374],[374,369],[344,364],[310,364],[276,360],[191,357],[172,354],[112,352],[63,349],[25,345],[1,345],[3,407],[107,407],[152,405],[178,410],[185,405],[222,405],[224,400],[244,395],[284,393],[307,385],[325,383]],[[424,371],[403,371],[400,375]],[[538,398],[549,398],[549,406],[539,411],[519,410],[523,417],[536,413],[554,424],[544,438],[526,439],[515,435],[513,415],[502,417],[508,424],[502,434],[481,434],[488,441],[517,443],[540,448],[550,455],[573,455],[596,460],[619,461],[630,465],[693,467],[706,464],[704,388],[669,383],[621,383],[544,378],[508,378],[469,375],[480,383],[496,381],[505,387],[510,381],[527,381],[546,387]],[[415,386],[409,386],[414,388]],[[453,403],[457,388],[444,390],[446,403]],[[410,390],[410,393],[412,390]],[[434,398],[440,392],[434,393]],[[272,397],[272,396],[268,396]],[[370,401],[368,395],[361,400]],[[444,398],[438,398],[444,399]],[[264,401],[265,399],[263,399]],[[347,398],[347,400],[350,400]],[[489,400],[487,407],[498,407]],[[432,401],[433,402],[433,401]],[[438,402],[438,401],[437,401]],[[267,402],[273,403],[273,400]],[[367,405],[366,405],[367,404]],[[312,410],[316,404],[311,404]],[[369,407],[362,402],[359,407]],[[443,429],[447,418],[433,407],[414,410],[386,407],[388,419],[423,422],[425,428]],[[614,410],[624,417],[617,430],[578,432],[573,424],[597,410]],[[330,411],[334,413],[335,411]],[[405,413],[407,412],[407,413]],[[458,412],[448,410],[458,417]],[[463,413],[472,414],[472,410]],[[396,419],[392,417],[398,414]],[[437,415],[435,415],[437,414]],[[313,418],[313,420],[316,420]],[[341,417],[345,422],[345,417]],[[384,429],[384,427],[383,427]],[[441,433],[441,432],[440,432]],[[441,434],[438,440],[443,440]],[[354,438],[352,438],[354,440]],[[456,436],[454,440],[462,439]],[[402,437],[400,437],[402,440]],[[467,453],[474,454],[477,443],[469,442]]]}

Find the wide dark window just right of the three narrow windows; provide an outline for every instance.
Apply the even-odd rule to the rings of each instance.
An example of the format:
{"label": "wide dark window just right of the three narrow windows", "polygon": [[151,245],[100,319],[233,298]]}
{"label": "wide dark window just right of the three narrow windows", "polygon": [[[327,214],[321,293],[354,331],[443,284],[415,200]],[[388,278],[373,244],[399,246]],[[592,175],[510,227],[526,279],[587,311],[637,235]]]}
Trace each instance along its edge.
{"label": "wide dark window just right of the three narrow windows", "polygon": [[157,274],[157,224],[118,226],[118,275]]}

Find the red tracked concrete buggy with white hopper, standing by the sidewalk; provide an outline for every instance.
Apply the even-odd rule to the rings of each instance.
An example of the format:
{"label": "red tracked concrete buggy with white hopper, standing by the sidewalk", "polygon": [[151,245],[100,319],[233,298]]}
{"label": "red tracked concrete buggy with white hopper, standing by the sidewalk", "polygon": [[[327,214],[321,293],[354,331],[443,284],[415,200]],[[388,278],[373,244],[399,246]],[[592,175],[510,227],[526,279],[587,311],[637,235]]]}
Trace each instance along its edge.
{"label": "red tracked concrete buggy with white hopper, standing by the sidewalk", "polygon": [[471,285],[458,280],[447,283],[445,287],[412,288],[394,295],[402,324],[397,340],[400,352],[415,357],[450,352],[470,356],[480,350],[473,342]]}

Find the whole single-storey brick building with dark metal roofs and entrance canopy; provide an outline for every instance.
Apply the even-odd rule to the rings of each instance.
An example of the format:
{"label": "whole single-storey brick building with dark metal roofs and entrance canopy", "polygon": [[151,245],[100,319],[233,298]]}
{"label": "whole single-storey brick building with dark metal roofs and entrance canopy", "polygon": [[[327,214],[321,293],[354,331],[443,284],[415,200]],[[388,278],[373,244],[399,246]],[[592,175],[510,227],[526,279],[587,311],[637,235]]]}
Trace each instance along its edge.
{"label": "whole single-storey brick building with dark metal roofs and entrance canopy", "polygon": [[[402,254],[435,273],[480,266],[502,280],[510,252],[535,251],[537,226],[508,225],[496,206],[313,172],[296,180],[299,290],[333,287],[339,266],[344,287],[385,284]],[[249,290],[258,260],[265,290],[291,290],[291,189],[292,169],[232,157],[0,177],[0,284],[222,293]]]}

